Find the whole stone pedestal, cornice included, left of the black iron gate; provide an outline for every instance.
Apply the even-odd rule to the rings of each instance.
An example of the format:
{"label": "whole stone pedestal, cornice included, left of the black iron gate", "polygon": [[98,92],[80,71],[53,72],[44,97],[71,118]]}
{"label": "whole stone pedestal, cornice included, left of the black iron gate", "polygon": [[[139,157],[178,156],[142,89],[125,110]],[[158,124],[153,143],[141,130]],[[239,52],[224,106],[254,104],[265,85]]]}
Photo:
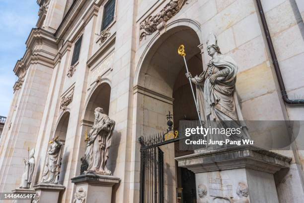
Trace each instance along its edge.
{"label": "whole stone pedestal, cornice included, left of the black iron gate", "polygon": [[112,187],[120,182],[114,176],[95,174],[80,175],[71,180],[76,185],[75,203],[111,203]]}

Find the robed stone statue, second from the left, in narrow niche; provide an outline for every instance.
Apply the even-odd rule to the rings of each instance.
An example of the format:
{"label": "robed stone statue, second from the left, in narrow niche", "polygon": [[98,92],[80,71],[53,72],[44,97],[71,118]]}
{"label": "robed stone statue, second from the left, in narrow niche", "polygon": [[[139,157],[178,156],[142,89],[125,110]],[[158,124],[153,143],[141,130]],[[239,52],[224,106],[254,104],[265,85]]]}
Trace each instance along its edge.
{"label": "robed stone statue, second from the left, in narrow niche", "polygon": [[47,160],[42,175],[42,183],[58,184],[59,173],[61,167],[61,154],[63,150],[63,142],[59,141],[56,136],[50,141],[50,148],[47,154]]}

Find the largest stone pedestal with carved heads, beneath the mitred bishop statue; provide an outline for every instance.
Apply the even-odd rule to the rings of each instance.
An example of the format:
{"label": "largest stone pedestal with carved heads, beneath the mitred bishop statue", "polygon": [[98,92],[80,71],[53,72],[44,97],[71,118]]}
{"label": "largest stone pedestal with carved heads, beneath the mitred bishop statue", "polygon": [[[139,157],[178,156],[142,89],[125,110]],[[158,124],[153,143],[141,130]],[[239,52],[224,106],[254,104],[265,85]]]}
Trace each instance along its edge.
{"label": "largest stone pedestal with carved heads, beneath the mitred bishop statue", "polygon": [[291,158],[252,146],[204,151],[175,158],[195,173],[198,203],[279,203],[273,174]]}

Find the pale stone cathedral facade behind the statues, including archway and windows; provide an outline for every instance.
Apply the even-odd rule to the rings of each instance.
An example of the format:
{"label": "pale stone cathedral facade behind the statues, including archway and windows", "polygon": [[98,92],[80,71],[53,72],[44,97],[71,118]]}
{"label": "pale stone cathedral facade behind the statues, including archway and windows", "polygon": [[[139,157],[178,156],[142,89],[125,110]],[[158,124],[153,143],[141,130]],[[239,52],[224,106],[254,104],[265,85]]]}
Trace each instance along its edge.
{"label": "pale stone cathedral facade behind the statues, including archway and windows", "polygon": [[[20,186],[28,148],[35,149],[36,160],[30,188],[41,183],[50,142],[57,137],[62,144],[58,184],[64,186],[58,202],[72,203],[78,188],[71,179],[80,174],[86,136],[94,124],[95,109],[101,107],[115,120],[107,168],[119,183],[113,186],[111,201],[140,202],[139,138],[166,131],[168,111],[173,114],[174,129],[180,120],[197,118],[177,49],[184,44],[189,71],[199,75],[211,59],[207,51],[210,33],[217,36],[221,53],[238,65],[235,88],[243,120],[304,120],[302,0],[37,3],[37,27],[31,30],[26,52],[13,68],[18,80],[0,136],[1,193]],[[299,136],[304,136],[303,128]],[[301,144],[295,141],[289,150],[276,150],[290,158],[288,167],[271,174],[277,202],[304,200]],[[198,186],[199,190],[204,187],[199,183],[195,187],[194,182],[194,194],[187,192],[191,183],[183,178],[192,172],[175,161],[189,153],[178,150],[175,143],[160,148],[164,152],[164,202],[181,201],[181,188],[184,200],[197,200]],[[267,193],[265,189],[265,194],[254,195]]]}

